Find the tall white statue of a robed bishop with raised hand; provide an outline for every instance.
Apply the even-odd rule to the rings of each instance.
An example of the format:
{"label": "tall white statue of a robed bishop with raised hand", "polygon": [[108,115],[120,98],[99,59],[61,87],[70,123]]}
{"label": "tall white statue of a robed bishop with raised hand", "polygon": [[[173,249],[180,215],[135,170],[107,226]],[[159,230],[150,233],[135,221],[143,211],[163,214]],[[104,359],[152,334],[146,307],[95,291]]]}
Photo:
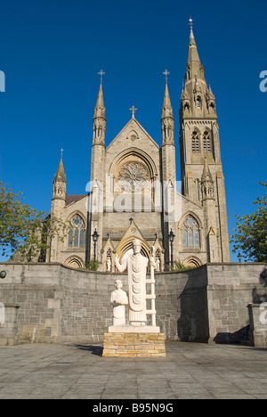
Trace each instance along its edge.
{"label": "tall white statue of a robed bishop with raised hand", "polygon": [[[129,285],[129,322],[132,326],[145,326],[147,323],[146,306],[146,274],[149,259],[141,254],[141,241],[133,241],[134,255],[126,258],[122,264],[119,263],[118,256],[115,264],[120,273],[128,269]],[[150,265],[157,268],[155,259],[151,257]]]}

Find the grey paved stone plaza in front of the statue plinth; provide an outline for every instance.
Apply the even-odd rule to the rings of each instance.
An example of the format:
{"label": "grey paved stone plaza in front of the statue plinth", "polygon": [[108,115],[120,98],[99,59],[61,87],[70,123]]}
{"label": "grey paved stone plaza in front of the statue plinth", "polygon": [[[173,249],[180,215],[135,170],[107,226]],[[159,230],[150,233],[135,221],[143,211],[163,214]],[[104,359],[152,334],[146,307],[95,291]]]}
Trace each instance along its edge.
{"label": "grey paved stone plaza in front of the statue plinth", "polygon": [[105,358],[101,345],[0,349],[0,399],[267,398],[267,349],[167,343],[166,359]]}

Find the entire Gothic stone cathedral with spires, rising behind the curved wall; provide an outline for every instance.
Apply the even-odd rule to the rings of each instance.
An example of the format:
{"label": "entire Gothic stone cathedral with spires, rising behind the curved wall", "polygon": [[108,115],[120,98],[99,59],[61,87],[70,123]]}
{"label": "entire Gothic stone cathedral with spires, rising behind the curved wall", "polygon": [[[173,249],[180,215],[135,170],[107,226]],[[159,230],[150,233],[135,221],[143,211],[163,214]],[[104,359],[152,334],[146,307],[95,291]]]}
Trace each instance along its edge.
{"label": "entire Gothic stone cathedral with spires, rising behind the curved wall", "polygon": [[167,71],[165,75],[161,146],[135,118],[134,106],[132,118],[106,146],[101,80],[93,115],[90,188],[85,195],[67,193],[61,157],[51,212],[69,221],[69,234],[64,241],[53,239],[47,262],[80,268],[97,261],[99,271],[116,273],[116,256],[127,257],[134,239],[142,242],[147,258],[155,247],[161,272],[176,262],[189,267],[230,262],[215,98],[206,85],[192,25],[179,114],[180,181]]}

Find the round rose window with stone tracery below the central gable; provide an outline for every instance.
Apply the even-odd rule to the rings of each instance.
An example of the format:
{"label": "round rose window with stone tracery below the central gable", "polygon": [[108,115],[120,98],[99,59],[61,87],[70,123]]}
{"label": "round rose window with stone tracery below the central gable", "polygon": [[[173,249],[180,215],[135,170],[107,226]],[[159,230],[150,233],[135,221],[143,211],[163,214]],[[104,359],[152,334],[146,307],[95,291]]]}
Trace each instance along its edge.
{"label": "round rose window with stone tracery below the central gable", "polygon": [[117,176],[118,184],[127,192],[142,191],[149,179],[147,168],[136,162],[125,164]]}

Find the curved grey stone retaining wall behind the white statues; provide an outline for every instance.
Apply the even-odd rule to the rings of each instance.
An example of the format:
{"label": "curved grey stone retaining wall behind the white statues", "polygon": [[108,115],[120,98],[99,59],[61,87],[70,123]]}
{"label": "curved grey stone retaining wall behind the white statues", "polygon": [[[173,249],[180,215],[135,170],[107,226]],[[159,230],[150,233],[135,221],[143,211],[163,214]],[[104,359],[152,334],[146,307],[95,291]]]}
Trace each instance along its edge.
{"label": "curved grey stone retaining wall behind the white statues", "polygon": [[[230,342],[246,339],[247,304],[266,301],[264,264],[209,264],[156,274],[157,325],[166,339]],[[126,274],[78,271],[61,264],[0,264],[0,302],[20,305],[20,342],[102,341],[112,325],[114,281]],[[3,328],[0,329],[0,335]]]}

